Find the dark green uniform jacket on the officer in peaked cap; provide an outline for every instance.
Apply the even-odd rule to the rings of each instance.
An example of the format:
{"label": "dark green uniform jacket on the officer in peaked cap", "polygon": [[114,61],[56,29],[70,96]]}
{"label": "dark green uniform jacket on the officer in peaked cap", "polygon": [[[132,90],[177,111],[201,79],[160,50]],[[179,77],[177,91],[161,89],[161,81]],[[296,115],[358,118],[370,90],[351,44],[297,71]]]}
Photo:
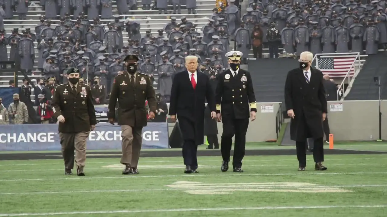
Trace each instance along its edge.
{"label": "dark green uniform jacket on the officer in peaked cap", "polygon": [[148,101],[149,112],[156,112],[156,93],[148,75],[137,72],[134,76],[135,86],[130,84],[128,73],[115,77],[110,93],[108,118],[115,117],[118,100],[118,125],[144,127],[147,125],[145,101]]}

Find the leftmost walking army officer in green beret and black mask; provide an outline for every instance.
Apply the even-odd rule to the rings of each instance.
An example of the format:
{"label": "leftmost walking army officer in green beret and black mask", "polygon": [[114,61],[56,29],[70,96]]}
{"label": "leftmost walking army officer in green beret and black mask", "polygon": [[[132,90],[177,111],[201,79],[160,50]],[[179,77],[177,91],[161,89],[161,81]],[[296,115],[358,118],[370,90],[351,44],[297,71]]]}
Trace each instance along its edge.
{"label": "leftmost walking army officer in green beret and black mask", "polygon": [[65,161],[65,175],[71,175],[75,162],[77,175],[84,176],[86,139],[97,123],[90,86],[79,83],[79,70],[67,70],[68,83],[57,86],[51,105],[59,122],[59,137]]}

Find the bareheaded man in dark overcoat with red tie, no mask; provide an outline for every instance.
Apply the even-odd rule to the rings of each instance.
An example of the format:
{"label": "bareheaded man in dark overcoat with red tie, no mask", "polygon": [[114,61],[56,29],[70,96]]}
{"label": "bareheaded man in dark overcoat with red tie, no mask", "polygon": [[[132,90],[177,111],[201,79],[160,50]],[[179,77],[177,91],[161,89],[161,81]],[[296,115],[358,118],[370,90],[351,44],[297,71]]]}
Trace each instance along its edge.
{"label": "bareheaded man in dark overcoat with red tie, no mask", "polygon": [[207,75],[198,72],[197,56],[187,56],[187,71],[177,73],[173,78],[169,115],[176,122],[179,119],[183,134],[184,173],[197,173],[197,146],[204,143],[205,100],[211,110],[211,118],[216,117],[214,92]]}

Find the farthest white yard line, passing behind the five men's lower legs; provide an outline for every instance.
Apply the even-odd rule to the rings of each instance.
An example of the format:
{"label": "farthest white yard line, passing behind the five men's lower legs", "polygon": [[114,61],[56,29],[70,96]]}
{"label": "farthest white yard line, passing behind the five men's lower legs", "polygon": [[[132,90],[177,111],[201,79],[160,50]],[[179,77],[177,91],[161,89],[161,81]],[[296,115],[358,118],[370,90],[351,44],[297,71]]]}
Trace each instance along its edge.
{"label": "farthest white yard line, passing behind the five men's lower legs", "polygon": [[[95,158],[93,158],[95,159]],[[103,159],[103,158],[101,158]],[[387,159],[387,158],[332,158],[325,159],[325,161],[342,161],[342,160],[379,160],[379,159]],[[60,159],[36,159],[36,160],[26,160],[26,161],[41,161],[41,160],[60,160]],[[256,159],[256,160],[243,160],[244,161],[296,161],[297,159]],[[181,161],[140,161],[141,163],[171,163],[171,162],[183,162]],[[208,160],[208,161],[197,161],[197,162],[222,162],[222,160]],[[87,164],[101,164],[101,163],[119,163],[119,161],[108,161],[108,162],[89,162]],[[59,163],[58,163],[59,164]],[[63,162],[61,161],[62,165]],[[55,163],[31,163],[31,164],[0,164],[0,166],[30,166],[30,165],[55,165]]]}

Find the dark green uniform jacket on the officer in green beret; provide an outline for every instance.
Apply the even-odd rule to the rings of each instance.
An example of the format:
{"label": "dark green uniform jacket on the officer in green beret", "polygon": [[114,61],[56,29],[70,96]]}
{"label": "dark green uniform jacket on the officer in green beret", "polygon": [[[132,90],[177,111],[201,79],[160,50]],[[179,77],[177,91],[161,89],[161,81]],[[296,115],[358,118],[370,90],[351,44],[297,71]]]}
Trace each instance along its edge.
{"label": "dark green uniform jacket on the officer in green beret", "polygon": [[91,89],[78,83],[74,93],[69,83],[58,85],[51,102],[56,118],[63,115],[64,123],[59,123],[59,132],[89,132],[91,125],[97,124]]}

